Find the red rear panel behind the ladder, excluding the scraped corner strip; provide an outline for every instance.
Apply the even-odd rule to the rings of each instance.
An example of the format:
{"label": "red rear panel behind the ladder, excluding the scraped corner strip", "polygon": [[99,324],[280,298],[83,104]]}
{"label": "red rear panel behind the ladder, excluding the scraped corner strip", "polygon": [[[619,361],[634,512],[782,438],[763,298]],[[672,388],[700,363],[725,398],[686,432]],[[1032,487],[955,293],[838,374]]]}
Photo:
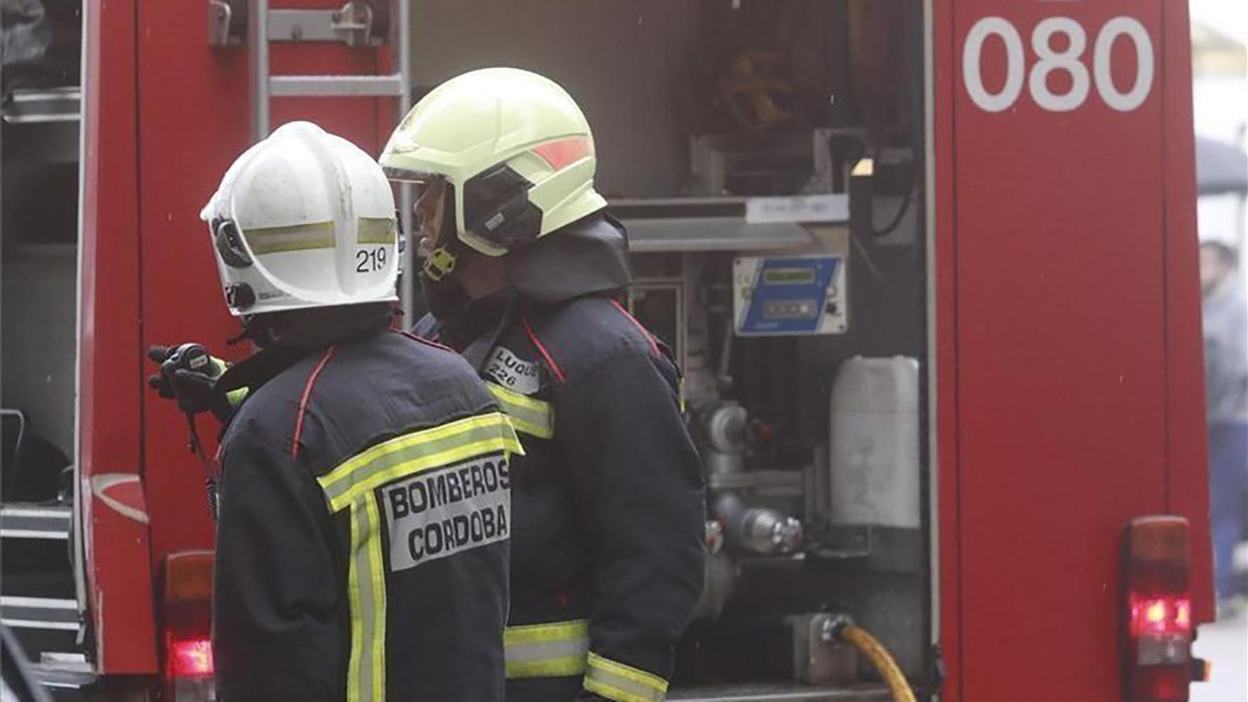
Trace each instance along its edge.
{"label": "red rear panel behind the ladder, excluding the scraped corner strip", "polygon": [[[142,340],[145,345],[195,340],[238,357],[247,349],[226,350],[225,341],[237,334],[238,324],[226,312],[198,212],[226,167],[250,145],[247,50],[208,46],[206,15],[180,2],[142,2],[139,12]],[[275,72],[377,71],[376,50],[343,45],[275,44],[271,56]],[[391,110],[388,101],[275,100],[273,126],[310,119],[376,154],[379,140],[388,136],[378,130],[378,110]],[[206,438],[216,433],[213,420],[200,423]],[[201,468],[186,450],[185,427],[171,402],[146,398],[145,487],[154,563],[171,551],[212,547]],[[210,455],[212,450],[208,446]]]}

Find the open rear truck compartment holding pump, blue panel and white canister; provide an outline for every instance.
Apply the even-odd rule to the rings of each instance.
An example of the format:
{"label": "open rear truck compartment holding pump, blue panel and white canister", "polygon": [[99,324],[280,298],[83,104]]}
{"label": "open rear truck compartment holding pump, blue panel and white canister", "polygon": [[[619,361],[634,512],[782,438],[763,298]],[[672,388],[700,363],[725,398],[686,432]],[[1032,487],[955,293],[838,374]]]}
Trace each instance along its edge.
{"label": "open rear truck compartment holding pump, blue panel and white canister", "polygon": [[886,700],[842,613],[936,691],[924,31],[917,0],[413,5],[417,96],[492,65],[575,96],[685,368],[711,556],[673,698]]}

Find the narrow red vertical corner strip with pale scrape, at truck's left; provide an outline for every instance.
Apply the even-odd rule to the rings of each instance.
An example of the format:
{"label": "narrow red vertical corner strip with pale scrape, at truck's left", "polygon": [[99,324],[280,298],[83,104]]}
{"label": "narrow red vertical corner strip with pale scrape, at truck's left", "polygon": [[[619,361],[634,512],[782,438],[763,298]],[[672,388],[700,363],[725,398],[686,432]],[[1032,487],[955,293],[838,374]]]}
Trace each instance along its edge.
{"label": "narrow red vertical corner strip with pale scrape, at truck's left", "polygon": [[79,492],[89,606],[97,670],[149,673],[156,635],[147,525],[94,490],[134,482],[141,468],[134,2],[90,0],[85,22]]}

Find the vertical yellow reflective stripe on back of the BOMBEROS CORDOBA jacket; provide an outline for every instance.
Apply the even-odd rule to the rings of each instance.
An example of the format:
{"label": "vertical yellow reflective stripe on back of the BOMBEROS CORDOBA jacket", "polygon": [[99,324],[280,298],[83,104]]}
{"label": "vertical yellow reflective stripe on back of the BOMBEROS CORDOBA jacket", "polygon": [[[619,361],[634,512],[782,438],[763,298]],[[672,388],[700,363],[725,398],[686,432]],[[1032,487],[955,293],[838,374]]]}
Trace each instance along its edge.
{"label": "vertical yellow reflective stripe on back of the BOMBEROS CORDOBA jacket", "polygon": [[381,517],[372,496],[351,508],[351,658],[347,701],[386,698],[386,572],[382,566]]}

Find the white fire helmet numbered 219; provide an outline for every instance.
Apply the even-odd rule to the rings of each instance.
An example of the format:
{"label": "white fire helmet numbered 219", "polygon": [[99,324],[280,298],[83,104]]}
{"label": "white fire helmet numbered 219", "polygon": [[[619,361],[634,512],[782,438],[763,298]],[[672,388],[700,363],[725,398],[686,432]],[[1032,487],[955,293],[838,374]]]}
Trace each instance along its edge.
{"label": "white fire helmet numbered 219", "polygon": [[398,300],[398,225],[368,154],[290,122],[230,166],[200,212],[235,316]]}

